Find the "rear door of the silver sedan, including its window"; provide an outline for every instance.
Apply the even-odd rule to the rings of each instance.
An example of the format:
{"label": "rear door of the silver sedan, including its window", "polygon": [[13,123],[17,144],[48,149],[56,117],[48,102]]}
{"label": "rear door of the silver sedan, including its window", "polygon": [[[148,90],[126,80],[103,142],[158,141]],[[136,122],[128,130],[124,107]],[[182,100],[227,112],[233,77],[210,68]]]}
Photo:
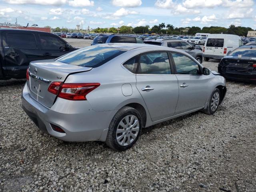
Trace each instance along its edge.
{"label": "rear door of the silver sedan, including its window", "polygon": [[168,52],[147,52],[140,55],[136,87],[152,121],[174,115],[179,90],[178,80],[172,71]]}

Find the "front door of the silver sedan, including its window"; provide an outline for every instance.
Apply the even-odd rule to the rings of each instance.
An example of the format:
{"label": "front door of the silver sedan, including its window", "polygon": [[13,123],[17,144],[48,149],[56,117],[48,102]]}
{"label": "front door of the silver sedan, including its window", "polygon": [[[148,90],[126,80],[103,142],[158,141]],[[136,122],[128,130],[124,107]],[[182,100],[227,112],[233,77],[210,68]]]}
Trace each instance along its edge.
{"label": "front door of the silver sedan, including its window", "polygon": [[202,75],[201,67],[192,58],[178,52],[171,55],[179,88],[175,114],[202,108],[208,98],[210,76]]}

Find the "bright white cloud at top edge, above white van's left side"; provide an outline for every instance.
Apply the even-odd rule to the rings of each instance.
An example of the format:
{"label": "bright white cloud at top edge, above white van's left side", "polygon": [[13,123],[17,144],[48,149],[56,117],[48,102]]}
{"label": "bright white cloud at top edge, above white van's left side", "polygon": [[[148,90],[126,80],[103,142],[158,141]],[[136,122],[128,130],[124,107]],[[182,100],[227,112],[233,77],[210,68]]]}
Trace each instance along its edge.
{"label": "bright white cloud at top edge, above white van's left side", "polygon": [[183,6],[191,9],[191,8],[213,8],[215,6],[220,6],[222,4],[222,0],[185,0]]}

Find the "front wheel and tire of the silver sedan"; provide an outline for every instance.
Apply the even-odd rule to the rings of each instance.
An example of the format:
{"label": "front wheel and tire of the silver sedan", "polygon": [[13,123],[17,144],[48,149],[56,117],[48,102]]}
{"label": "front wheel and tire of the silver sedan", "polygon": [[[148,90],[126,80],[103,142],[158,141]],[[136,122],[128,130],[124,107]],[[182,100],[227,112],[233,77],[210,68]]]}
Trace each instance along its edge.
{"label": "front wheel and tire of the silver sedan", "polygon": [[203,110],[204,113],[208,115],[214,114],[218,107],[220,105],[220,90],[218,88],[215,88],[210,97],[208,98],[208,106],[205,110]]}

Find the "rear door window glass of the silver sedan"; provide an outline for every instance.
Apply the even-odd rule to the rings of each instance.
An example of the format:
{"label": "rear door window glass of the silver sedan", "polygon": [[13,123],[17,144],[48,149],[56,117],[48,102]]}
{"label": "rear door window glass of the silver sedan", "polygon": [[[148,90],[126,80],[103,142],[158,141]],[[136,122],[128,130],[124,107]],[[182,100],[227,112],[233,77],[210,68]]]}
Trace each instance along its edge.
{"label": "rear door window glass of the silver sedan", "polygon": [[156,52],[141,55],[138,74],[171,74],[167,52]]}

